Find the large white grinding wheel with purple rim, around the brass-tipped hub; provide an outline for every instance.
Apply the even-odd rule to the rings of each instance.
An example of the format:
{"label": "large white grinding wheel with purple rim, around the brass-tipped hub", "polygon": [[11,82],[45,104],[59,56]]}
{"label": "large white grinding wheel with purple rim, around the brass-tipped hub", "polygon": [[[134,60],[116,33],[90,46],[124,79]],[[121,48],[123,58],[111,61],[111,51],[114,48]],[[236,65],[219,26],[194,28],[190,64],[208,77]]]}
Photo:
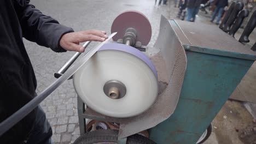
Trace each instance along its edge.
{"label": "large white grinding wheel with purple rim, around the brass-tipped hub", "polygon": [[[158,95],[153,63],[142,52],[123,44],[105,44],[73,75],[74,88],[84,103],[103,115],[131,117],[149,109]],[[126,93],[112,99],[106,82],[123,83]]]}

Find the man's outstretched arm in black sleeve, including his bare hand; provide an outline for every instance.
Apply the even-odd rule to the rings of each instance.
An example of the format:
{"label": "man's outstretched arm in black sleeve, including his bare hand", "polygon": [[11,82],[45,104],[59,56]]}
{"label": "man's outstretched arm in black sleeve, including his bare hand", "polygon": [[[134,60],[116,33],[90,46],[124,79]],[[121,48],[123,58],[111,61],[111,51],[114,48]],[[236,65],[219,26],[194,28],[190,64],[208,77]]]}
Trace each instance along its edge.
{"label": "man's outstretched arm in black sleeve, including his bare hand", "polygon": [[79,43],[88,40],[104,41],[107,38],[103,31],[74,32],[72,28],[60,25],[52,17],[42,14],[30,4],[30,0],[16,0],[14,5],[23,37],[38,45],[50,47],[53,51],[84,52]]}

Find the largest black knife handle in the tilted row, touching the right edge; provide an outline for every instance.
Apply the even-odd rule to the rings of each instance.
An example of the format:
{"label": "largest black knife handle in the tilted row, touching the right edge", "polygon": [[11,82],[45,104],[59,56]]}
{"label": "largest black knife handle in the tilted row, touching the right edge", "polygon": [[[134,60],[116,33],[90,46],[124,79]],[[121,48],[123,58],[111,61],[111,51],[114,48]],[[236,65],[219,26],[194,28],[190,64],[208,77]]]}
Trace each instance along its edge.
{"label": "largest black knife handle in the tilted row, touching the right edge", "polygon": [[249,35],[252,33],[253,29],[256,26],[256,11],[253,12],[249,22],[245,27],[245,31],[243,31],[239,41],[241,43],[249,43]]}

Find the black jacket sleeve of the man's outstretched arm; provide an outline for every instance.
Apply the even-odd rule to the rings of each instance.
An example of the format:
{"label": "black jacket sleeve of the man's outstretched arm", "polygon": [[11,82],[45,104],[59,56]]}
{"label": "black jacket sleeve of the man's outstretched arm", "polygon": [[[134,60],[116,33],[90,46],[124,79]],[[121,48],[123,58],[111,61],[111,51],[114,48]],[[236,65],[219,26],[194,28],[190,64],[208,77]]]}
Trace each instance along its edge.
{"label": "black jacket sleeve of the man's outstretched arm", "polygon": [[72,28],[60,25],[52,17],[42,14],[30,4],[30,0],[15,0],[14,5],[24,38],[50,47],[55,52],[66,51],[59,44],[60,38],[65,33],[74,32]]}

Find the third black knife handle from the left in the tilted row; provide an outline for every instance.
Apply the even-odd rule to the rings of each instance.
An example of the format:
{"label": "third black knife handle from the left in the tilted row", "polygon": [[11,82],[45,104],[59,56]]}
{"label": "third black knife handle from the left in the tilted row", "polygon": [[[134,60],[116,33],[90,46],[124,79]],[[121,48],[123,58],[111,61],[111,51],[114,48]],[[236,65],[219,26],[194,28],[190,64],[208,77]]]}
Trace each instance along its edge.
{"label": "third black knife handle from the left in the tilted row", "polygon": [[247,9],[242,10],[238,14],[234,25],[232,26],[232,28],[229,31],[229,35],[231,35],[232,37],[235,36],[235,33],[237,32],[237,30],[241,27],[241,25],[243,23],[243,19],[245,19],[245,17],[247,17],[248,15],[249,15],[249,10],[247,10]]}

